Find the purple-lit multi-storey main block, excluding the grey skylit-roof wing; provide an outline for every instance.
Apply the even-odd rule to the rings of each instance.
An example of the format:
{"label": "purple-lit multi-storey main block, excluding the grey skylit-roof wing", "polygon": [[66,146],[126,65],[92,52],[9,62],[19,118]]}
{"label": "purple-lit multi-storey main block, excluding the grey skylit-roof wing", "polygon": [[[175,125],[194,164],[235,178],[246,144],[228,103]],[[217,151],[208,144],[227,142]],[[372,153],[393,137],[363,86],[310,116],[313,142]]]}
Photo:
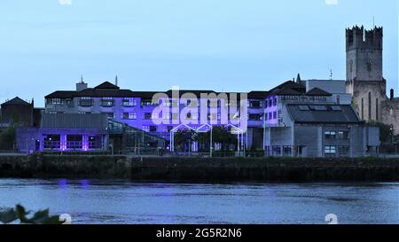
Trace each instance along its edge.
{"label": "purple-lit multi-storey main block, excluding the grey skylit-roof wing", "polygon": [[[116,84],[116,83],[115,83]],[[323,90],[306,90],[301,80],[288,81],[269,91],[251,91],[246,93],[245,102],[238,99],[237,109],[228,109],[228,120],[223,121],[223,106],[228,105],[221,93],[212,90],[179,90],[174,96],[174,90],[168,91],[132,91],[121,90],[117,85],[104,82],[95,88],[88,88],[85,82],[76,84],[73,91],[55,91],[45,97],[45,113],[103,113],[113,121],[121,122],[129,127],[143,130],[153,136],[170,139],[170,131],[179,127],[182,115],[190,120],[189,126],[198,129],[202,124],[201,110],[207,112],[207,123],[213,126],[237,125],[231,117],[239,112],[241,105],[246,105],[245,146],[263,149],[263,129],[267,127],[284,127],[283,111],[289,103],[323,103],[332,94]],[[185,95],[191,93],[199,98],[199,104],[191,107],[195,112],[182,111],[190,105],[190,98]],[[167,98],[153,101],[155,94],[163,94]],[[200,98],[202,94],[215,94],[217,105],[209,105],[202,109]],[[231,98],[230,93],[227,97]],[[211,100],[211,98],[208,98]],[[229,101],[229,99],[228,99]],[[230,100],[231,101],[231,100]],[[229,102],[230,102],[229,101]],[[177,104],[177,105],[176,105]],[[163,106],[163,112],[154,113],[156,108]],[[166,108],[165,108],[166,107]],[[167,110],[165,112],[165,110]],[[245,114],[245,113],[242,113]]]}

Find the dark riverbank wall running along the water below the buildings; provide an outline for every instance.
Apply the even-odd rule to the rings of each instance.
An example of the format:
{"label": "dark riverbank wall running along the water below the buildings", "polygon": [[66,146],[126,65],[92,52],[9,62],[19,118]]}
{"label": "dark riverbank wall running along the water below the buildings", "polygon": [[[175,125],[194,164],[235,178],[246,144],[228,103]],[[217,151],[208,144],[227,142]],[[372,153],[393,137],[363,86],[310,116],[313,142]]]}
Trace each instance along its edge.
{"label": "dark riverbank wall running along the water below the buildings", "polygon": [[399,159],[0,156],[0,177],[160,182],[397,182]]}

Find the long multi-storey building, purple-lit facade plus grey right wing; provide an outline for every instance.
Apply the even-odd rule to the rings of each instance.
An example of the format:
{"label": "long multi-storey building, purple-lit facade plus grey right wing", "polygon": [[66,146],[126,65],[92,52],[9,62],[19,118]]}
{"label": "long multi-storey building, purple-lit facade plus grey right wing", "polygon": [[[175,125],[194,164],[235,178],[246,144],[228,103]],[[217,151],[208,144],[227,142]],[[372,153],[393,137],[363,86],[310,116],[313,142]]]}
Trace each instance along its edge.
{"label": "long multi-storey building, purple-lit facade plus grey right wing", "polygon": [[[246,129],[241,134],[242,142],[238,148],[263,150],[267,155],[315,157],[362,156],[368,151],[377,152],[378,130],[365,127],[350,105],[350,97],[341,93],[342,90],[345,90],[343,81],[302,81],[298,74],[296,82],[283,82],[271,90],[247,92],[245,103],[240,103],[238,97],[238,108],[246,105],[247,112]],[[213,90],[179,90],[176,98],[172,95],[173,90],[123,90],[111,82],[103,82],[94,88],[79,82],[75,91],[55,91],[45,97],[45,112],[83,115],[102,113],[116,126],[125,126],[124,129],[134,129],[152,136],[148,142],[157,139],[168,141],[172,130],[182,125],[182,110],[190,105],[190,101],[184,98],[187,93],[192,93],[200,100],[201,94],[214,94],[217,100],[215,115],[207,114],[207,121],[215,121],[212,124],[214,126],[225,125],[220,117],[222,107],[228,104],[218,97],[223,93]],[[167,98],[154,103],[155,94],[165,94]],[[231,93],[226,95],[230,97]],[[174,102],[178,104],[177,115],[172,107]],[[167,113],[154,116],[155,108],[164,104],[168,106]],[[209,103],[207,105],[206,110],[209,112],[212,107]],[[200,121],[200,104],[194,109],[198,113],[191,113],[191,119]],[[231,114],[241,115],[237,110],[229,110]],[[46,119],[48,117],[44,116],[43,121],[47,122]],[[165,124],[160,123],[160,120],[170,122]],[[62,123],[58,125],[62,127]],[[197,129],[200,125],[199,122],[191,125],[191,128]],[[309,137],[312,138],[308,142],[306,138]],[[133,142],[126,140],[124,144],[127,145]],[[195,147],[192,151],[196,151]]]}

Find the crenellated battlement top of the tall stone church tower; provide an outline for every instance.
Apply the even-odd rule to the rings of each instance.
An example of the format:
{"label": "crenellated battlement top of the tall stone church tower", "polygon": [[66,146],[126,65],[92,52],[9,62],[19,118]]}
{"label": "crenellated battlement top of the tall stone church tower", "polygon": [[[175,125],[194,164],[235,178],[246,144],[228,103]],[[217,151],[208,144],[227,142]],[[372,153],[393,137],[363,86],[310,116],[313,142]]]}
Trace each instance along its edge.
{"label": "crenellated battlement top of the tall stone church tower", "polygon": [[366,30],[362,27],[346,29],[347,51],[355,49],[382,50],[383,27]]}

